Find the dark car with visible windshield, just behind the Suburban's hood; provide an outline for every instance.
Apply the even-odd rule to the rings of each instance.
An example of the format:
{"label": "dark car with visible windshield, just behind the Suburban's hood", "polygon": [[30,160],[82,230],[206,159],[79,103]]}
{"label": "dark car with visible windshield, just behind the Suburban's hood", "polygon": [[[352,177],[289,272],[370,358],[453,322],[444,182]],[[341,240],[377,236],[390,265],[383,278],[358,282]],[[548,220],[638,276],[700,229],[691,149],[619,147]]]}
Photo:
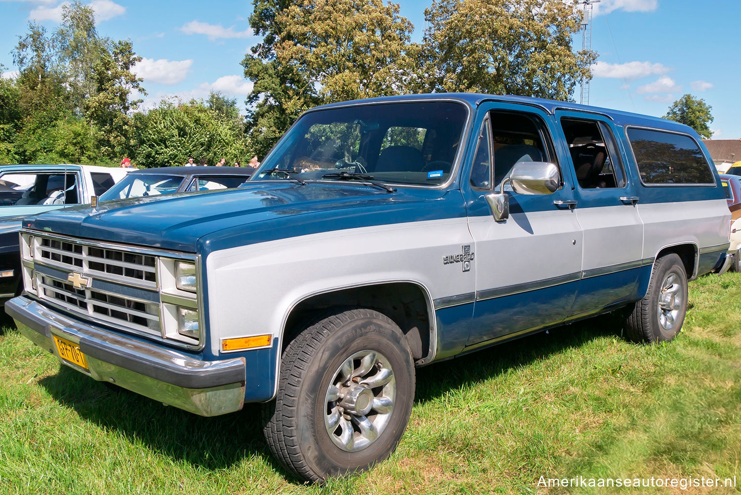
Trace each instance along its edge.
{"label": "dark car with visible windshield, just behind the Suburban's hood", "polygon": [[175,192],[230,189],[244,183],[254,171],[251,167],[161,167],[131,172],[99,201],[129,197],[156,196]]}

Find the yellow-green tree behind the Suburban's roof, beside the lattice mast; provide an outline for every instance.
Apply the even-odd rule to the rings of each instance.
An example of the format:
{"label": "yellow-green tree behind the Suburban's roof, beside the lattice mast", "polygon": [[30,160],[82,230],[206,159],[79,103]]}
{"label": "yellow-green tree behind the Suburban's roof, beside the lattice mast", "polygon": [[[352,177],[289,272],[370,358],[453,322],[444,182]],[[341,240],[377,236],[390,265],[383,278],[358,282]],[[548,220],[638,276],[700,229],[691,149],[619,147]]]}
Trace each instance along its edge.
{"label": "yellow-green tree behind the Suburban's roof, beside the lattice mast", "polygon": [[562,0],[433,0],[419,88],[569,100],[597,59],[572,50],[581,19]]}

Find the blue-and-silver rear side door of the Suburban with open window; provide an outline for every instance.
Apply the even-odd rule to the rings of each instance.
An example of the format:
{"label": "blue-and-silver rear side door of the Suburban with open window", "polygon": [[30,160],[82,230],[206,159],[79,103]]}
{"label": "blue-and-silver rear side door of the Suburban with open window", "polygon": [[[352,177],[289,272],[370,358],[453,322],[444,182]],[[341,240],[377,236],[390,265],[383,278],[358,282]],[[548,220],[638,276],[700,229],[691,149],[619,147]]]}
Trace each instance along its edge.
{"label": "blue-and-silver rear side door of the Suburban with open window", "polygon": [[556,111],[565,161],[574,174],[576,220],[584,232],[582,282],[572,315],[586,315],[634,297],[642,266],[643,223],[625,149],[607,117]]}

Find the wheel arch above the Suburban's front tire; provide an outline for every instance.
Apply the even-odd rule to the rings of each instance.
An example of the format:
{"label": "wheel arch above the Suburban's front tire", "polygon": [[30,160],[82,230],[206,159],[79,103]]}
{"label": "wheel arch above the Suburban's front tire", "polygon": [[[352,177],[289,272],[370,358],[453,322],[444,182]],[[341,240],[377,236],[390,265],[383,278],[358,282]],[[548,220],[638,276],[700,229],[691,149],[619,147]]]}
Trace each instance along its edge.
{"label": "wheel arch above the Suburban's front tire", "polygon": [[283,318],[281,353],[310,322],[331,308],[375,309],[396,323],[407,338],[415,361],[430,361],[436,351],[433,300],[418,281],[396,280],[360,283],[314,292],[296,301]]}

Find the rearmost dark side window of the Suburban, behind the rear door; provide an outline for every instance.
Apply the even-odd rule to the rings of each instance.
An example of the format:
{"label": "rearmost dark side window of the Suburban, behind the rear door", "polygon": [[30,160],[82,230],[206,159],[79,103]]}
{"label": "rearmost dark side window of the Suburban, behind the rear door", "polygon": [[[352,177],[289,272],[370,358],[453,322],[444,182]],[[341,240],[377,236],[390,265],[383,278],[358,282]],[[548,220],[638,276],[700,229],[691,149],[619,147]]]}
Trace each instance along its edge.
{"label": "rearmost dark side window of the Suburban, behind the rear door", "polygon": [[628,140],[645,184],[714,184],[700,145],[685,134],[628,128]]}

